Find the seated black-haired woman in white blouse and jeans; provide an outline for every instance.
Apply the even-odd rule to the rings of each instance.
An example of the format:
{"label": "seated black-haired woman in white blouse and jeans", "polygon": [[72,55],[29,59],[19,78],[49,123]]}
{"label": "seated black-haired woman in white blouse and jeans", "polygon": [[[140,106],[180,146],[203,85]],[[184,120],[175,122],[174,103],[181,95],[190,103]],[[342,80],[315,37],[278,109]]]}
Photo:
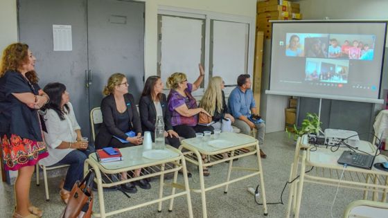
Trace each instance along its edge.
{"label": "seated black-haired woman in white blouse and jeans", "polygon": [[64,84],[49,83],[43,90],[50,97],[44,116],[47,129],[44,137],[50,156],[39,163],[46,166],[70,165],[63,188],[60,190],[62,201],[67,203],[74,183],[82,180],[84,162],[94,149],[88,146],[87,141],[81,140],[81,128]]}

